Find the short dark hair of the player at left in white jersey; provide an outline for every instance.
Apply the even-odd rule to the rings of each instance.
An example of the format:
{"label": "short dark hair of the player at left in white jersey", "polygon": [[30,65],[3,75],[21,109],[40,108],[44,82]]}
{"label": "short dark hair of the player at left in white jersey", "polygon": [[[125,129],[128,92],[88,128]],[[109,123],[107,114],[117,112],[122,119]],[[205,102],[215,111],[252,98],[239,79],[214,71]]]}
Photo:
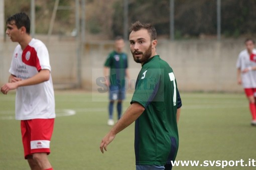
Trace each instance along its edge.
{"label": "short dark hair of the player at left in white jersey", "polygon": [[6,24],[15,24],[18,28],[24,26],[26,32],[30,34],[30,18],[25,12],[19,12],[10,16],[6,21]]}

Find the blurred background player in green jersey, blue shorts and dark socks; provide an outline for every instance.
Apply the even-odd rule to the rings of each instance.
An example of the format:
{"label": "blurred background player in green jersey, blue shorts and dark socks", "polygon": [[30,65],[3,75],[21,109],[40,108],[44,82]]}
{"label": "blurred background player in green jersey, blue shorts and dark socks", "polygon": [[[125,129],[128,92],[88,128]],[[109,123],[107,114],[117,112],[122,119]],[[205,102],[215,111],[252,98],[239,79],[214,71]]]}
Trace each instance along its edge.
{"label": "blurred background player in green jersey, blue shorts and dark socks", "polygon": [[123,47],[124,39],[121,36],[117,36],[114,42],[114,50],[109,53],[104,63],[104,76],[106,77],[106,85],[109,87],[108,125],[114,124],[114,101],[117,101],[117,120],[121,117],[122,100],[125,98],[125,77],[127,77],[128,81],[130,79],[128,59],[126,53],[122,51]]}

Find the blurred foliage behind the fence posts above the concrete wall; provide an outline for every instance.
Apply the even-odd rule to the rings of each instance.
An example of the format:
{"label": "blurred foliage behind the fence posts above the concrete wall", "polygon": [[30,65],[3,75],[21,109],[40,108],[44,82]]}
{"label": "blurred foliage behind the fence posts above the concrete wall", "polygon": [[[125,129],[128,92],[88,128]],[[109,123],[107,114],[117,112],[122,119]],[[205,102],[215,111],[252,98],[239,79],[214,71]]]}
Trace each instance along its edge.
{"label": "blurred foliage behind the fence posts above the concrete wall", "polygon": [[[30,13],[30,0],[5,0],[5,18],[19,12]],[[47,33],[54,0],[36,0],[36,29]],[[216,0],[174,0],[175,30],[182,36],[216,35]],[[13,5],[15,4],[15,5]],[[75,27],[75,0],[60,0],[53,33],[70,32]],[[255,0],[221,0],[221,32],[226,37],[255,34]],[[114,37],[123,34],[123,0],[86,0],[86,28],[91,34]],[[129,0],[129,24],[140,20],[156,26],[158,35],[170,33],[170,0]]]}

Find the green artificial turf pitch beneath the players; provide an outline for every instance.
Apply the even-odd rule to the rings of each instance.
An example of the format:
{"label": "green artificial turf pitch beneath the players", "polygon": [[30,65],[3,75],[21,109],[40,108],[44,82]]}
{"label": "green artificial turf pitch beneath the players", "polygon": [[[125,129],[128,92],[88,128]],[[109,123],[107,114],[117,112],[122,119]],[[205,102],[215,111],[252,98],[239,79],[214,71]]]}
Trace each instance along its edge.
{"label": "green artificial turf pitch beneath the players", "polygon": [[[128,93],[123,111],[131,97]],[[176,160],[200,161],[202,166],[179,165],[173,169],[222,169],[216,164],[205,167],[203,161],[243,159],[247,163],[256,159],[256,127],[250,125],[244,94],[181,92],[181,97]],[[49,155],[54,169],[135,169],[134,124],[118,133],[104,154],[99,150],[102,137],[110,129],[106,124],[107,98],[107,93],[55,91],[57,117]],[[15,92],[0,94],[0,108],[0,169],[29,169],[23,158],[20,121],[13,119]],[[238,164],[224,169],[254,168]]]}

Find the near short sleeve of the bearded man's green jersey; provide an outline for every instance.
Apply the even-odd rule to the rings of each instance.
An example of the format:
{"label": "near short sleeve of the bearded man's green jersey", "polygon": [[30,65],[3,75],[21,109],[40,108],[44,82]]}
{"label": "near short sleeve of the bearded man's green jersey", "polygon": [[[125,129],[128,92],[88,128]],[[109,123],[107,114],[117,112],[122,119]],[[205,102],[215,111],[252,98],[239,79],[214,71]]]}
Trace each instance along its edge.
{"label": "near short sleeve of the bearded man's green jersey", "polygon": [[143,69],[138,75],[131,103],[139,102],[145,108],[153,101],[159,88],[161,69]]}

